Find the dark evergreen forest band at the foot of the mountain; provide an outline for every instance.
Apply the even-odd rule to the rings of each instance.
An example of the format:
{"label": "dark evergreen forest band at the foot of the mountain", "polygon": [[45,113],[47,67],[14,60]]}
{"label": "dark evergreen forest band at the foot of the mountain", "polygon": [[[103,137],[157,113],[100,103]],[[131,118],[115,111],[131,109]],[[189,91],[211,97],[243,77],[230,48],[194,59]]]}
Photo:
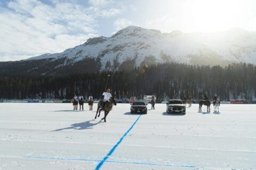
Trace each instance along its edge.
{"label": "dark evergreen forest band at the foot of the mountain", "polygon": [[74,94],[100,98],[108,87],[117,99],[156,95],[158,100],[195,100],[217,94],[222,100],[256,96],[256,66],[229,64],[225,67],[164,63],[134,67],[129,71],[72,73],[63,76],[0,75],[1,99],[71,99]]}

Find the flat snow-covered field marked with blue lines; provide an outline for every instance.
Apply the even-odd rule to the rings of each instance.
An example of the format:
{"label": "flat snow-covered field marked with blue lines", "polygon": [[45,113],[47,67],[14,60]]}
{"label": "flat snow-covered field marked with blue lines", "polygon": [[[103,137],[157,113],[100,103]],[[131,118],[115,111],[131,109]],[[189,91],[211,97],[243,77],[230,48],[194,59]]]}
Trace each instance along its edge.
{"label": "flat snow-covered field marked with blue lines", "polygon": [[131,115],[117,104],[107,123],[93,107],[0,103],[0,169],[256,169],[256,105]]}

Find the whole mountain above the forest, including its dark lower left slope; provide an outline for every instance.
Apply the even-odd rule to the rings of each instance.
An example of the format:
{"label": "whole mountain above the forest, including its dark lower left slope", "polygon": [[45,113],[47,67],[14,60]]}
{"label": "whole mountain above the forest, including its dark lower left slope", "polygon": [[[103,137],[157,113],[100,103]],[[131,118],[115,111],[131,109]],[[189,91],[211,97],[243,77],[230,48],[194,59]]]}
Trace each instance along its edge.
{"label": "whole mountain above the forest, including its dark lower left slope", "polygon": [[256,32],[232,29],[212,33],[183,33],[178,30],[162,33],[129,26],[111,37],[90,38],[84,44],[62,53],[44,54],[24,61],[0,62],[0,67],[1,70],[12,67],[16,70],[23,68],[24,72],[55,74],[81,70],[123,70],[166,62],[256,64]]}

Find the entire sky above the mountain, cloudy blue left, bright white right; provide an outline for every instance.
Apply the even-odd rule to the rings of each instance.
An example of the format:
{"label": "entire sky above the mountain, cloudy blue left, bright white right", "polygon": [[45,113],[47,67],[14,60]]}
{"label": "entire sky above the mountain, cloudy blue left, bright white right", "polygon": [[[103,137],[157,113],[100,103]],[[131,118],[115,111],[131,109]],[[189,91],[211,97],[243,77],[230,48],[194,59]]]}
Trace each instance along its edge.
{"label": "entire sky above the mountain, cloudy blue left, bright white right", "polygon": [[162,32],[256,31],[256,1],[0,0],[0,61],[60,53],[129,25]]}

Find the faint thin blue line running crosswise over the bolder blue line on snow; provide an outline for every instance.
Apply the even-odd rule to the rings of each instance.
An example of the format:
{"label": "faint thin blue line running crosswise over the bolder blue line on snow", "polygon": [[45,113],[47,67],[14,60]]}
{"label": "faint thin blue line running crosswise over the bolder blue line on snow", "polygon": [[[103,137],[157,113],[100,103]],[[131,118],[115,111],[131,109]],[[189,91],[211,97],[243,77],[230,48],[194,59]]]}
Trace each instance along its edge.
{"label": "faint thin blue line running crosswise over the bolder blue line on snow", "polygon": [[[34,159],[55,159],[55,160],[77,160],[77,161],[88,161],[88,162],[101,162],[102,160],[97,159],[74,159],[74,158],[51,158],[51,157],[34,157],[24,156],[23,158],[34,158]],[[153,165],[153,166],[174,166],[174,167],[189,167],[189,168],[203,168],[204,166],[191,166],[191,165],[172,165],[172,164],[155,164],[155,163],[137,163],[137,162],[124,162],[116,160],[106,160],[107,163],[120,163],[120,164],[137,164],[137,165]]]}

